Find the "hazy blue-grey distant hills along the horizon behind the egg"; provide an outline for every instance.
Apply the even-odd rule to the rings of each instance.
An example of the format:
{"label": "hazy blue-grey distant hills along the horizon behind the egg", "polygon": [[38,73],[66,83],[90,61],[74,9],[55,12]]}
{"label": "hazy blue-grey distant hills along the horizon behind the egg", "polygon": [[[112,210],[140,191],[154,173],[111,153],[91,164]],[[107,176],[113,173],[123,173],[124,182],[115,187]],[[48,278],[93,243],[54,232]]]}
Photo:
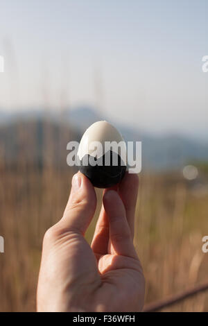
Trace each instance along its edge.
{"label": "hazy blue-grey distant hills along the horizon behind the egg", "polygon": [[[45,119],[47,122],[44,122]],[[208,144],[193,141],[180,135],[156,137],[149,135],[144,130],[135,130],[129,126],[120,125],[115,121],[111,121],[108,117],[103,117],[103,119],[114,124],[120,130],[125,141],[142,141],[143,169],[180,169],[189,162],[208,161]],[[22,137],[30,139],[31,130],[36,128],[36,134],[34,134],[36,142],[33,154],[31,153],[31,161],[38,160],[40,162],[43,151],[47,149],[44,134],[46,128],[48,128],[47,130],[51,130],[51,133],[48,132],[48,138],[51,137],[54,146],[53,156],[57,157],[58,155],[59,164],[65,164],[67,142],[80,140],[86,128],[99,120],[101,120],[99,114],[87,106],[76,108],[76,110],[64,110],[62,119],[56,112],[52,112],[50,117],[44,117],[40,110],[35,109],[15,115],[3,114],[0,111],[0,144],[6,146],[5,155],[8,160],[15,160],[19,148],[21,148],[18,144],[18,130],[24,130],[23,135],[21,135],[22,140]]]}

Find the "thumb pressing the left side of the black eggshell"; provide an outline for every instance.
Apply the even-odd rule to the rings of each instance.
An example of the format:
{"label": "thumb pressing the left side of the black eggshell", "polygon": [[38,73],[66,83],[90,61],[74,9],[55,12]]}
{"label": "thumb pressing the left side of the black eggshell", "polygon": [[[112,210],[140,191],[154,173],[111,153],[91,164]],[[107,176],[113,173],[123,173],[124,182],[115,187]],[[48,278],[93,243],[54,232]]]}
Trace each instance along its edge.
{"label": "thumb pressing the left side of the black eggshell", "polygon": [[83,173],[73,175],[71,194],[60,221],[62,228],[85,234],[96,209],[96,193]]}

